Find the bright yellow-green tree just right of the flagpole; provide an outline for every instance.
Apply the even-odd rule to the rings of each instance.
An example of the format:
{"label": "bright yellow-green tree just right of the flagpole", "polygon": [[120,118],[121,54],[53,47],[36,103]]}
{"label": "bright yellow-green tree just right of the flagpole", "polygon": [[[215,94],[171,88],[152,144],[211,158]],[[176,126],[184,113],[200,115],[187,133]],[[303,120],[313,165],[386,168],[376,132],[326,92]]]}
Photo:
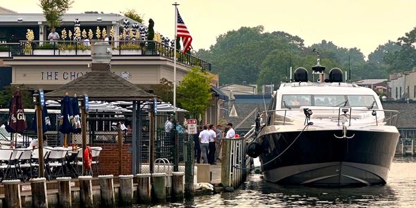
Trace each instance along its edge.
{"label": "bright yellow-green tree just right of the flagpole", "polygon": [[177,102],[193,118],[204,114],[212,99],[212,77],[205,71],[193,68],[177,87]]}

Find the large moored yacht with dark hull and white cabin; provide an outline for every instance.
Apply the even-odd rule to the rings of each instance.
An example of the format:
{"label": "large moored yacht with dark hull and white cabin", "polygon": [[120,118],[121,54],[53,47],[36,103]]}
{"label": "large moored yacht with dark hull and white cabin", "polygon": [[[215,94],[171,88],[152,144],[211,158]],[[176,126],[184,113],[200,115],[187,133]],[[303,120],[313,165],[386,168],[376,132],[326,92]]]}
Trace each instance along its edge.
{"label": "large moored yacht with dark hull and white cabin", "polygon": [[254,155],[260,157],[264,179],[324,186],[385,184],[399,139],[398,112],[383,110],[372,89],[343,83],[338,68],[326,79],[319,57],[312,69],[318,83],[308,81],[306,69],[296,69],[295,81],[280,85],[258,119]]}

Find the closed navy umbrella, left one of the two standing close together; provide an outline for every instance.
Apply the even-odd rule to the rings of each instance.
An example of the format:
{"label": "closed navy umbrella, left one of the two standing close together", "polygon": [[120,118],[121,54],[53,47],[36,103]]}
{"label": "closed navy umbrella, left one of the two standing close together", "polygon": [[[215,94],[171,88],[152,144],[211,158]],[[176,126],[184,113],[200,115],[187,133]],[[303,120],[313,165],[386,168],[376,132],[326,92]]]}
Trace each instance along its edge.
{"label": "closed navy umbrella, left one of the two standing close together", "polygon": [[61,114],[60,114],[60,126],[59,131],[62,134],[69,134],[73,130],[73,112],[71,99],[69,96],[65,96],[61,101]]}

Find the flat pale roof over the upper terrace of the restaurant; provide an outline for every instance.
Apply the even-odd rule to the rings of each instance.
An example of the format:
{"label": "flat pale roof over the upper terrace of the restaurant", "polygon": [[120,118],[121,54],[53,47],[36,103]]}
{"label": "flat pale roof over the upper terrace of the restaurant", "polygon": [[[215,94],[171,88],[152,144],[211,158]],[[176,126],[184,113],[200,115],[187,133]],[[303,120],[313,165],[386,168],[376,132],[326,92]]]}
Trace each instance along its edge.
{"label": "flat pale roof over the upper terrace of the restaurant", "polygon": [[[17,19],[21,18],[21,22],[18,22]],[[101,18],[100,21],[97,21],[97,18]],[[75,19],[79,19],[81,26],[83,24],[112,24],[113,22],[119,23],[121,26],[123,26],[123,19],[128,19],[130,21],[130,24],[137,23],[139,26],[142,26],[143,24],[130,19],[128,17],[124,17],[123,15],[119,14],[103,14],[103,13],[78,13],[78,14],[65,14],[62,17],[62,24],[73,24],[73,21]],[[10,24],[25,24],[25,23],[36,23],[38,22],[46,22],[46,19],[44,17],[44,14],[42,13],[2,13],[0,8],[0,22],[2,24],[10,23]],[[88,24],[87,24],[88,25]]]}

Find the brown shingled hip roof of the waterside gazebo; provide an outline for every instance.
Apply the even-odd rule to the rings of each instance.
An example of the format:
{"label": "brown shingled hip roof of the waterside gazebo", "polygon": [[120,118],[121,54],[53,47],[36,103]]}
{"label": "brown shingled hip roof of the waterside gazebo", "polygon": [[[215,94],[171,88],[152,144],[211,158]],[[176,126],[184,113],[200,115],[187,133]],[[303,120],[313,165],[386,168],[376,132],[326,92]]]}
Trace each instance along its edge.
{"label": "brown shingled hip roof of the waterside gazebo", "polygon": [[45,94],[47,99],[60,99],[68,94],[87,94],[90,101],[150,101],[158,96],[145,92],[112,71],[91,71],[53,92]]}

